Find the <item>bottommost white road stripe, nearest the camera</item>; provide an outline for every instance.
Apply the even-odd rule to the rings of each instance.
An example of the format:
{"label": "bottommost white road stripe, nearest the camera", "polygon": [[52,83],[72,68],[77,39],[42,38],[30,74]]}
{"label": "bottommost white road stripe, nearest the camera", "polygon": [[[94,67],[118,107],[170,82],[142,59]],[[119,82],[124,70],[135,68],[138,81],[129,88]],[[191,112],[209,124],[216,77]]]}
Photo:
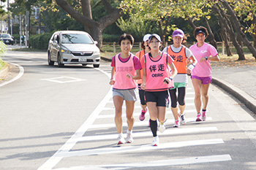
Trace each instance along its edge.
{"label": "bottommost white road stripe, nearest the camera", "polygon": [[136,163],[118,163],[108,165],[95,165],[95,166],[72,166],[69,168],[59,168],[54,170],[116,170],[116,169],[132,169],[142,167],[157,167],[157,166],[177,166],[177,165],[188,165],[195,163],[211,163],[220,161],[232,161],[230,155],[209,155],[209,156],[198,156],[189,158],[178,158],[178,159],[167,159],[161,161],[143,161]]}

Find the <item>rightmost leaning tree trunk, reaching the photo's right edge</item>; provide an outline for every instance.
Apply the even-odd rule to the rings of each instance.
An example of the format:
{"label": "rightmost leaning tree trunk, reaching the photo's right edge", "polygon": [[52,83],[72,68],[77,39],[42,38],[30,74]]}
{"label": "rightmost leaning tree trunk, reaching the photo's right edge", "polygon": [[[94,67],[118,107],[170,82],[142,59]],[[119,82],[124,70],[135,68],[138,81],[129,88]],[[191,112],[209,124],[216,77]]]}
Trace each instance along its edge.
{"label": "rightmost leaning tree trunk, reaching the photo's right edge", "polygon": [[256,58],[256,49],[255,49],[255,47],[252,46],[252,44],[246,38],[244,32],[241,30],[241,24],[240,24],[238,18],[236,17],[235,12],[230,7],[230,4],[228,4],[228,2],[225,1],[225,0],[222,0],[222,4],[226,7],[227,11],[230,13],[231,20],[233,22],[233,26],[236,29],[236,32],[237,32],[238,36],[241,37],[241,40],[244,42],[244,45],[246,45],[249,48],[252,55]]}

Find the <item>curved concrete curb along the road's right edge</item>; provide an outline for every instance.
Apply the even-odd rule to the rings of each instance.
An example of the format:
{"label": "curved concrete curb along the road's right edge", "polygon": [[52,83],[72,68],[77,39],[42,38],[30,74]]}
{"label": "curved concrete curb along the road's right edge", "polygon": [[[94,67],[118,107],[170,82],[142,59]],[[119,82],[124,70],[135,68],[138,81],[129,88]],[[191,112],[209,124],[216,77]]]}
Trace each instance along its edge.
{"label": "curved concrete curb along the road's right edge", "polygon": [[222,88],[227,93],[230,93],[232,96],[241,101],[245,106],[250,109],[254,114],[256,114],[256,99],[249,96],[249,94],[245,93],[243,90],[236,88],[234,85],[231,85],[229,82],[225,82],[224,80],[219,80],[217,78],[213,78],[212,82]]}

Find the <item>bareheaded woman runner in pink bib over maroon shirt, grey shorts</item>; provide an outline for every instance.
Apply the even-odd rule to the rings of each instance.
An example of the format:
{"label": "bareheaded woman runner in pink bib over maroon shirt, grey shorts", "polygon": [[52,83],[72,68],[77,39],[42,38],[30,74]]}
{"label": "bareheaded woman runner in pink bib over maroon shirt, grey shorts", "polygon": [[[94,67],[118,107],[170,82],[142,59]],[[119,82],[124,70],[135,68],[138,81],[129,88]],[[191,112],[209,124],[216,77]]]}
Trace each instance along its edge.
{"label": "bareheaded woman runner in pink bib over maroon shirt, grey shorts", "polygon": [[[115,123],[116,130],[118,132],[118,143],[124,144],[124,142],[132,143],[132,128],[135,122],[133,117],[133,111],[135,107],[135,101],[137,100],[135,95],[136,83],[135,80],[140,79],[140,60],[138,57],[130,53],[132,50],[134,39],[130,34],[123,34],[119,39],[119,45],[121,53],[113,56],[112,58],[112,72],[109,84],[113,85],[113,102],[115,106]],[[124,140],[123,125],[122,125],[122,106],[125,101],[127,112],[127,139]]]}

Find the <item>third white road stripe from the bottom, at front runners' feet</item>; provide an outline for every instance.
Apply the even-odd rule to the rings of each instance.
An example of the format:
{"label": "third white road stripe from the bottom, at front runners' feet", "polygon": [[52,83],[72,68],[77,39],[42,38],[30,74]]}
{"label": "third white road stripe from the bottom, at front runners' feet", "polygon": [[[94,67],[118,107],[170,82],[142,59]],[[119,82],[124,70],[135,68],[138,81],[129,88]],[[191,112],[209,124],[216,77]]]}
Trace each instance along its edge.
{"label": "third white road stripe from the bottom, at front runners' feet", "polygon": [[[166,136],[166,135],[173,135],[173,134],[189,134],[189,133],[199,133],[205,131],[217,131],[216,127],[203,127],[203,128],[172,128],[170,130],[165,130],[164,133],[158,133],[159,136]],[[152,136],[151,131],[147,132],[138,132],[132,133],[133,138],[136,137],[145,137],[145,136]],[[95,136],[83,136],[80,138],[72,139],[74,141],[95,141],[95,140],[108,140],[108,139],[117,139],[118,134],[107,134],[107,135],[95,135]]]}

